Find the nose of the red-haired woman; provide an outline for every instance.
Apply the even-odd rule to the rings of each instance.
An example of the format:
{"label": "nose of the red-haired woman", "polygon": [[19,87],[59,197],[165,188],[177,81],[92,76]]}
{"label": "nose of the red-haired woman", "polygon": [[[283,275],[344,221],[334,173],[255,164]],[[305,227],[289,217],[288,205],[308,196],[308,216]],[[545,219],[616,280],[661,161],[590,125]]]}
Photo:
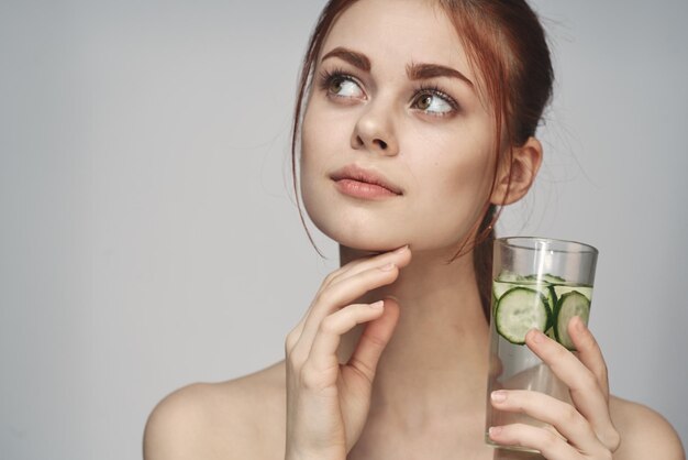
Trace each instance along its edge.
{"label": "nose of the red-haired woman", "polygon": [[352,147],[380,155],[397,155],[399,144],[395,134],[391,108],[375,102],[368,106],[354,128]]}

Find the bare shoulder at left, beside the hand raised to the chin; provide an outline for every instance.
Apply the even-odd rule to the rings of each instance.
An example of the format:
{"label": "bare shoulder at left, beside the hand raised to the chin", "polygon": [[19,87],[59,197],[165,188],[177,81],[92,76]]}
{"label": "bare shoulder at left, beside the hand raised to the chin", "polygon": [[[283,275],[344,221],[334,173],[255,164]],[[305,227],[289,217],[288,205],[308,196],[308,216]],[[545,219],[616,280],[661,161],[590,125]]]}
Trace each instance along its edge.
{"label": "bare shoulder at left, beside the hand raised to the chin", "polygon": [[284,369],[171,393],[148,417],[144,459],[284,459]]}

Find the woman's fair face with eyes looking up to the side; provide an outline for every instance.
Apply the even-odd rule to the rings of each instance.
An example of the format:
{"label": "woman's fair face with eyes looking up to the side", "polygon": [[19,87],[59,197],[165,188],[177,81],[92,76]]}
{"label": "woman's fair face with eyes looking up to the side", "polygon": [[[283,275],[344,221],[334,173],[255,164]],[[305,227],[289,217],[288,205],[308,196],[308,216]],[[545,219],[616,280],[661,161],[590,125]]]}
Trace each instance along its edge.
{"label": "woman's fair face with eyes looking up to the side", "polygon": [[341,244],[453,255],[490,199],[493,121],[451,20],[429,1],[362,0],[315,65],[301,193]]}

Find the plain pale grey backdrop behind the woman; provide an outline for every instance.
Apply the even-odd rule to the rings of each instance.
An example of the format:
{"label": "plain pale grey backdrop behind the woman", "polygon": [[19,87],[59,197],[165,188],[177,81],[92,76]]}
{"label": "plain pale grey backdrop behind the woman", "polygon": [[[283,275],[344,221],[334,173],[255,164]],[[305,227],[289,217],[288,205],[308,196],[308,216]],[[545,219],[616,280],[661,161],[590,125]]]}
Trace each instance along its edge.
{"label": "plain pale grey backdrop behind the woman", "polygon": [[[140,458],[170,391],[281,359],[321,260],[290,193],[321,0],[0,3],[0,458]],[[501,234],[598,247],[612,391],[688,439],[688,3],[539,0],[557,70]]]}

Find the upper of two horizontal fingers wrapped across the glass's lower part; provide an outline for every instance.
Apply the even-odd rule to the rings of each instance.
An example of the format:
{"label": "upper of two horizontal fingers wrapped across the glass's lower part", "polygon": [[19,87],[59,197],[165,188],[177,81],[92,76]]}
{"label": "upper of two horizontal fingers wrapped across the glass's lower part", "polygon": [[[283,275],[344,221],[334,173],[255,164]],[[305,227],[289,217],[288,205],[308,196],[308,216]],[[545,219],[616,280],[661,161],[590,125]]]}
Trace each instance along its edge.
{"label": "upper of two horizontal fingers wrapped across the glass's lower part", "polygon": [[[568,442],[576,446],[578,450],[589,453],[592,458],[599,458],[597,456],[603,454],[607,450],[600,445],[590,424],[570,404],[543,393],[526,390],[501,390],[493,392],[490,398],[492,406],[499,410],[526,414],[552,425]],[[528,442],[530,438],[519,439],[519,442]],[[534,447],[531,443],[523,443],[523,446]]]}

